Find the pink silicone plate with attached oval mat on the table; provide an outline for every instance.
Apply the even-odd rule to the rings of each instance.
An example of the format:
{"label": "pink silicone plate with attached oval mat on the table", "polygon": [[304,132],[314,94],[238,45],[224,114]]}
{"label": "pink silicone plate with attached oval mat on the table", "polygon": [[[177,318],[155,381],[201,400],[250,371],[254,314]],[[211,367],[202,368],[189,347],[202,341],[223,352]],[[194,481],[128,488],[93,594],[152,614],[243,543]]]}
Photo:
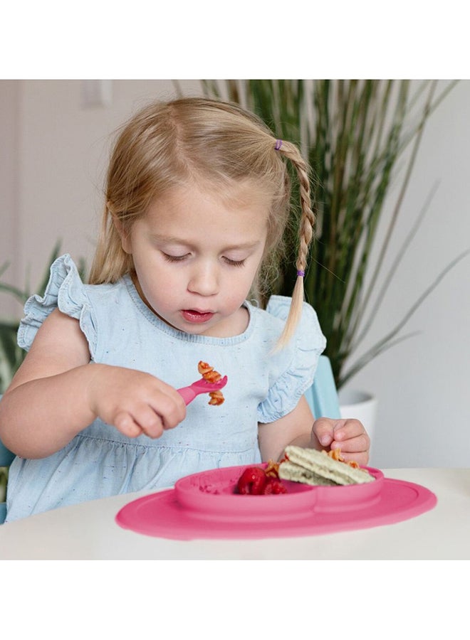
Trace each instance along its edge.
{"label": "pink silicone plate with attached oval mat on the table", "polygon": [[[262,466],[262,465],[260,465]],[[122,528],[174,540],[288,538],[369,528],[419,516],[437,503],[425,487],[387,479],[351,486],[307,486],[283,481],[287,494],[241,496],[236,481],[246,466],[186,476],[174,489],[124,506]]]}

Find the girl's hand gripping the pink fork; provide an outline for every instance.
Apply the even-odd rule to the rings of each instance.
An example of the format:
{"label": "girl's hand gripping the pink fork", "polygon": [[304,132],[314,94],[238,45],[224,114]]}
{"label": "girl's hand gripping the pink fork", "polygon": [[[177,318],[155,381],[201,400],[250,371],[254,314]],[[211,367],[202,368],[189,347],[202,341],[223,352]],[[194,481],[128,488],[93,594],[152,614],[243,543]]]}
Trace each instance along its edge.
{"label": "girl's hand gripping the pink fork", "polygon": [[127,437],[158,438],[186,416],[173,387],[150,373],[93,364],[86,397],[90,410]]}

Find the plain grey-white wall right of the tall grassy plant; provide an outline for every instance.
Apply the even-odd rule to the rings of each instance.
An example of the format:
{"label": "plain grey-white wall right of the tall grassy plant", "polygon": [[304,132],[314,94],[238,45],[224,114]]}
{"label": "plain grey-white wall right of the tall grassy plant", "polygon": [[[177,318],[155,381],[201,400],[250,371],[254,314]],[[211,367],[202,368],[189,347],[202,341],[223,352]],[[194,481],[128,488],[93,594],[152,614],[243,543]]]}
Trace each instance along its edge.
{"label": "plain grey-white wall right of the tall grassy plant", "polygon": [[[470,82],[462,81],[427,124],[391,254],[435,181],[424,223],[404,255],[367,343],[392,329],[437,274],[470,247]],[[410,319],[417,336],[386,351],[350,383],[378,399],[377,466],[469,466],[470,257]]]}

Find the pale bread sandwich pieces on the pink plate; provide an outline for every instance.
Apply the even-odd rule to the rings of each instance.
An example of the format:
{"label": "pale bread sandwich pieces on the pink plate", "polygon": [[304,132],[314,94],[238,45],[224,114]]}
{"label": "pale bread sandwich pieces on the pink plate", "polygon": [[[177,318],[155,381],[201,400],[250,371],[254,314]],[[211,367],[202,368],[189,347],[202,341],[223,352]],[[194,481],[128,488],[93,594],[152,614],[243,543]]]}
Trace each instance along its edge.
{"label": "pale bread sandwich pieces on the pink plate", "polygon": [[363,484],[375,480],[366,469],[335,460],[325,451],[293,445],[286,447],[286,459],[279,464],[279,477],[323,486]]}

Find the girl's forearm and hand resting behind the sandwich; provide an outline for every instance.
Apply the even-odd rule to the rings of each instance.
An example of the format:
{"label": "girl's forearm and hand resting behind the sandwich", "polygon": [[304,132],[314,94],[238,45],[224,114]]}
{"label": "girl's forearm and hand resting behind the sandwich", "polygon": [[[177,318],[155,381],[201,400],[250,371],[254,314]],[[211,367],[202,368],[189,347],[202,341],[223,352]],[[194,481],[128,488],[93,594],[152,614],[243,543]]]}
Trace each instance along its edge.
{"label": "girl's forearm and hand resting behind the sandwich", "polygon": [[365,465],[370,439],[359,420],[315,420],[305,396],[296,408],[276,422],[258,425],[258,442],[263,461],[279,460],[288,444],[310,449],[341,449],[345,460]]}

